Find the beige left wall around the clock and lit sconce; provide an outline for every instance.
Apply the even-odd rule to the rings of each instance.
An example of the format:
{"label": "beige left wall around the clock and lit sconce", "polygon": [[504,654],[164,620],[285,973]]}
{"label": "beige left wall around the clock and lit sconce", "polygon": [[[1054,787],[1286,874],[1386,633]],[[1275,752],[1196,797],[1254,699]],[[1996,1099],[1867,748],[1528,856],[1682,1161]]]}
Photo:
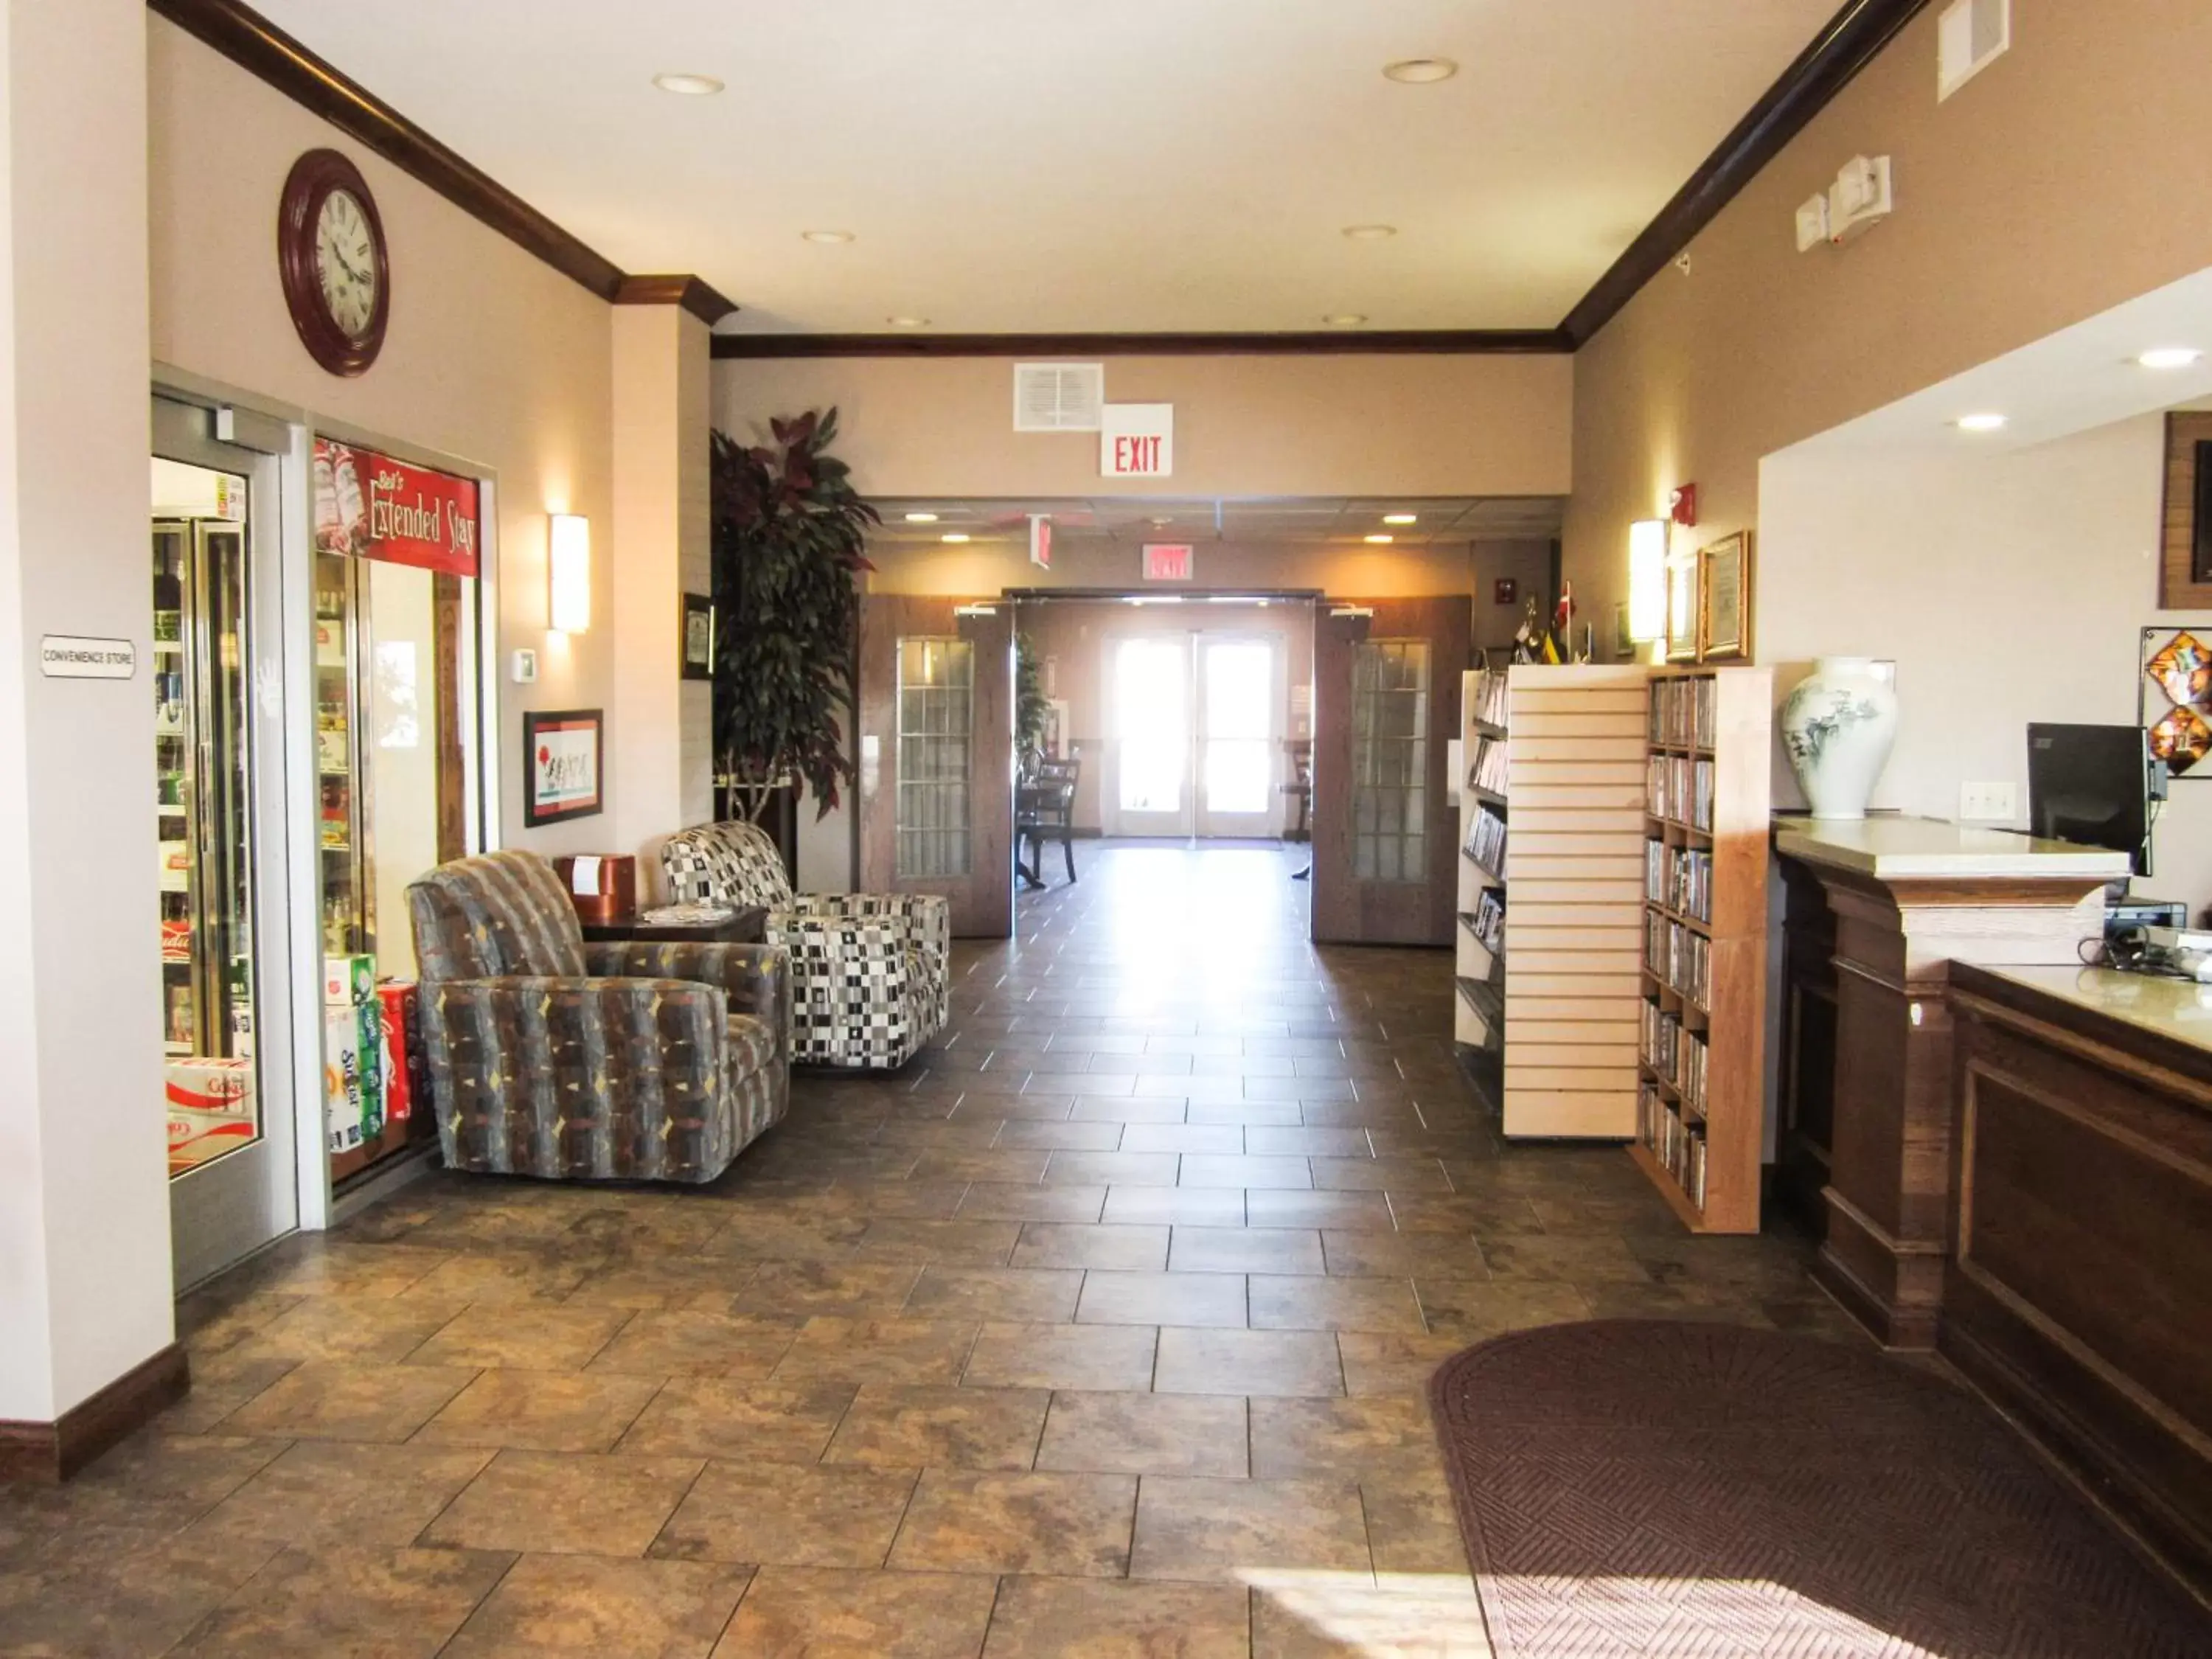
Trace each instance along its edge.
{"label": "beige left wall around the clock and lit sconce", "polygon": [[[615,307],[177,27],[139,15],[153,361],[495,476],[498,661],[504,670],[515,646],[540,653],[538,684],[500,675],[502,838],[540,852],[608,849],[606,818],[522,827],[522,710],[608,708],[611,750],[624,741],[611,708],[608,626]],[[316,146],[361,166],[392,246],[392,327],[376,367],[352,380],[305,354],[276,283],[274,204],[292,161]],[[80,184],[91,177],[102,175],[82,173]],[[573,637],[546,630],[546,515],[555,511],[593,522],[599,622]],[[613,803],[613,779],[608,787]]]}

